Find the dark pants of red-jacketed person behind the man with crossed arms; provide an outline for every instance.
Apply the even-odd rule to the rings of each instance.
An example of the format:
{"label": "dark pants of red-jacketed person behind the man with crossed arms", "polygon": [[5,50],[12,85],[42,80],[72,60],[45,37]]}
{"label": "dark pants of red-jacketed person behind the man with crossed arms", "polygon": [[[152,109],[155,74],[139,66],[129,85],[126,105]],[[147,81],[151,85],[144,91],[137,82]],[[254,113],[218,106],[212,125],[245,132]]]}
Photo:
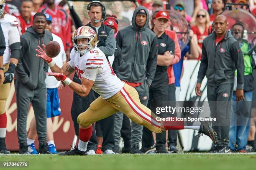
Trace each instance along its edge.
{"label": "dark pants of red-jacketed person behind the man with crossed arms", "polygon": [[[175,96],[175,84],[170,84],[168,88],[168,103],[171,104],[171,107],[175,107],[175,101],[176,101],[176,96]],[[177,116],[177,113],[175,112],[174,114],[170,114],[168,116]],[[174,145],[177,146],[177,135],[178,135],[178,130],[168,130],[168,146]]]}

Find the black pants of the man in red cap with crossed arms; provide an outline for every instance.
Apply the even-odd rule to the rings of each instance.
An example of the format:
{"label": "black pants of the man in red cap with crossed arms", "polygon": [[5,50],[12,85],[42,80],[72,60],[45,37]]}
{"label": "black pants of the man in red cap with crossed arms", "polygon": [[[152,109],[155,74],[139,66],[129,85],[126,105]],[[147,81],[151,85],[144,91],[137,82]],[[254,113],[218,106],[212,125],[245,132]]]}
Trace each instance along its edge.
{"label": "black pants of the man in red cap with crossed arms", "polygon": [[[167,72],[156,72],[152,85],[149,88],[148,108],[156,112],[156,107],[165,107],[168,95],[168,76]],[[166,117],[166,113],[158,115]],[[156,133],[156,150],[165,150],[166,132]],[[149,148],[154,145],[152,132],[143,127],[142,147]]]}

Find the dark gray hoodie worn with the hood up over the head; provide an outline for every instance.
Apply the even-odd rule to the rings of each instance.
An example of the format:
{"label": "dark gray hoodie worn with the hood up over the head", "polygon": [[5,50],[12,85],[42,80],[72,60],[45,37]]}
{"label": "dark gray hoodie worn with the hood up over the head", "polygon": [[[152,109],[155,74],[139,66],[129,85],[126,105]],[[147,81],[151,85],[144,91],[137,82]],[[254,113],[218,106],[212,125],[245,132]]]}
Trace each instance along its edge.
{"label": "dark gray hoodie worn with the hood up over the head", "polygon": [[[146,24],[138,29],[135,24],[136,14],[145,10]],[[158,43],[154,32],[148,29],[148,10],[137,7],[133,13],[132,25],[120,30],[116,36],[117,45],[121,49],[117,75],[128,82],[146,82],[151,85],[156,72]]]}

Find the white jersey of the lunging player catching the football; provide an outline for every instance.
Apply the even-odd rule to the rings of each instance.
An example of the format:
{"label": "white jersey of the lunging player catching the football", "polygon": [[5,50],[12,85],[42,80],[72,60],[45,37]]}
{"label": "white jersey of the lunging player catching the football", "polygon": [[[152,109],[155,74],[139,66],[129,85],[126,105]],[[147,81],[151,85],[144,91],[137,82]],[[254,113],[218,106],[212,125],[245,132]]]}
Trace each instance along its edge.
{"label": "white jersey of the lunging player catching the football", "polygon": [[[97,47],[86,52],[80,57],[79,53],[74,52],[74,48],[70,53],[70,66],[74,67],[77,76],[81,80],[87,68],[102,68],[94,80],[92,90],[99,93],[102,99],[108,99],[118,93],[124,86],[122,82],[114,73],[105,54]],[[85,77],[90,80],[90,77]]]}

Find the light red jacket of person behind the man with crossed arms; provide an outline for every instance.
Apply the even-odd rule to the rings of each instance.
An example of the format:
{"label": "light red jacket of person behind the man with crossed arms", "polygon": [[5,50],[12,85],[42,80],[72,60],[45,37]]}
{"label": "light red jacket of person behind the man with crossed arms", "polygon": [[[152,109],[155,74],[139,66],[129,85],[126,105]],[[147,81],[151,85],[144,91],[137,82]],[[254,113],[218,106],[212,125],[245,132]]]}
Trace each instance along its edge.
{"label": "light red jacket of person behind the man with crossed arms", "polygon": [[169,77],[169,85],[175,83],[175,77],[174,77],[174,72],[172,65],[176,64],[180,60],[180,55],[181,55],[181,50],[179,47],[179,40],[176,35],[175,31],[171,30],[165,30],[166,35],[168,35],[172,40],[174,40],[175,43],[175,50],[174,50],[174,59],[172,60],[172,64],[168,67],[167,74]]}

